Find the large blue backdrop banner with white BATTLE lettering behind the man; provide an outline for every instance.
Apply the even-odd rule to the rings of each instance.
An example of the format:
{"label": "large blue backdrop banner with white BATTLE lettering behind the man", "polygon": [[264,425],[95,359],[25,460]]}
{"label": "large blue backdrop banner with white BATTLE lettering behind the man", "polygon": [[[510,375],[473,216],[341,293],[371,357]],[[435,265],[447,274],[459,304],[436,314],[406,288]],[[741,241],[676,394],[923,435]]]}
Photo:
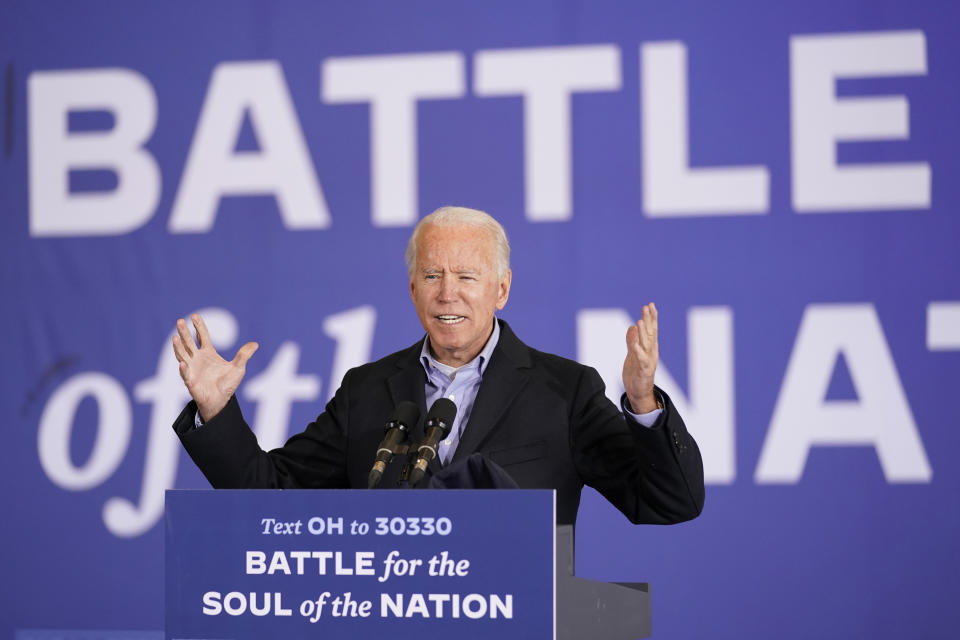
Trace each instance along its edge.
{"label": "large blue backdrop banner with white BATTLE lettering behind the man", "polygon": [[421,338],[403,251],[454,204],[510,236],[500,315],[611,397],[660,310],[706,507],[633,526],[587,491],[580,575],[650,582],[654,637],[955,637],[958,26],[936,0],[0,2],[0,635],[161,634],[164,491],[208,486],[170,428],[176,319],[260,343],[238,398],[276,446]]}

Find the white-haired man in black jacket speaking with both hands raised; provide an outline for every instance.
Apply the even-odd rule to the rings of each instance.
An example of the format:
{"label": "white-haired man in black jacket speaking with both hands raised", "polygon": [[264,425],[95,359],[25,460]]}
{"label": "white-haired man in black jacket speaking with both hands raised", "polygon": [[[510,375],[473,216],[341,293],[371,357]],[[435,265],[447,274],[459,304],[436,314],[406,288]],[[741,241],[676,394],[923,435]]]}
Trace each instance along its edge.
{"label": "white-haired man in black jacket speaking with both hands raised", "polygon": [[[216,488],[363,488],[384,422],[407,401],[425,414],[439,398],[456,406],[427,474],[479,453],[517,486],[556,489],[557,523],[576,520],[583,485],[635,523],[668,524],[703,508],[697,444],[670,398],[653,384],[657,310],[644,306],[626,334],[626,393],[618,408],[599,374],[524,344],[495,314],[510,294],[510,245],[488,214],[444,207],[415,227],[406,251],[410,297],[426,335],[351,369],[325,410],[283,447],[265,452],[234,392],[257,344],[231,361],[214,350],[203,318],[194,341],[177,321],[173,349],[193,397],[174,423],[183,446]],[[414,442],[423,419],[411,425]],[[383,487],[401,481],[387,467]]]}

